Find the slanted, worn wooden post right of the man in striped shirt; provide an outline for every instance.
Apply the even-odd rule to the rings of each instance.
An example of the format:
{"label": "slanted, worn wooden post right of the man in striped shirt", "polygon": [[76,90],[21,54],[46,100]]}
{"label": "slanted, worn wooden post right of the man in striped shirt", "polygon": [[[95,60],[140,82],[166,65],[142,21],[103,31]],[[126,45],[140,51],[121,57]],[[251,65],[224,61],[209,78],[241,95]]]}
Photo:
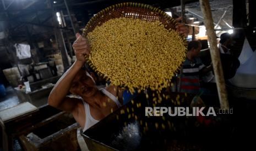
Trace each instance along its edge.
{"label": "slanted, worn wooden post right of the man in striped shirt", "polygon": [[227,92],[225,86],[224,75],[220,60],[220,51],[217,48],[216,34],[214,32],[213,17],[211,16],[211,8],[208,0],[200,0],[201,11],[204,16],[204,24],[206,27],[206,33],[210,43],[211,60],[213,61],[213,68],[215,74],[215,80],[217,84],[218,95],[220,99],[220,107],[222,109],[228,109],[229,104],[227,100]]}

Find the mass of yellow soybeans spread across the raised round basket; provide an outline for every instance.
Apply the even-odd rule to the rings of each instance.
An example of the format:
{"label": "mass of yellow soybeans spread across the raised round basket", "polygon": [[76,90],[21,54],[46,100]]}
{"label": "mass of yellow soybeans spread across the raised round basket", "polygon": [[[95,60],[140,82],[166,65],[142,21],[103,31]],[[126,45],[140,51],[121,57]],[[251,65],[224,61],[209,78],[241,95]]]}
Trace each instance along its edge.
{"label": "mass of yellow soybeans spread across the raised round basket", "polygon": [[132,92],[166,88],[186,56],[183,38],[160,21],[110,19],[86,37],[96,71]]}

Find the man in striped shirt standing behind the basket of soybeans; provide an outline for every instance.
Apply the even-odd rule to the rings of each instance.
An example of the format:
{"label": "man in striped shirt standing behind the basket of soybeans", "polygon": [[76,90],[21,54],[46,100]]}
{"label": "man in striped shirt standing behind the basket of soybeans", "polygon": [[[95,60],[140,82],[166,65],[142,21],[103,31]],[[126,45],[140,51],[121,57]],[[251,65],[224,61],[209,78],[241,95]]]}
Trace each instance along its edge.
{"label": "man in striped shirt standing behind the basket of soybeans", "polygon": [[199,74],[208,72],[212,66],[205,67],[198,57],[201,50],[201,43],[193,40],[188,43],[188,53],[183,62],[180,91],[192,94],[198,94],[200,89]]}

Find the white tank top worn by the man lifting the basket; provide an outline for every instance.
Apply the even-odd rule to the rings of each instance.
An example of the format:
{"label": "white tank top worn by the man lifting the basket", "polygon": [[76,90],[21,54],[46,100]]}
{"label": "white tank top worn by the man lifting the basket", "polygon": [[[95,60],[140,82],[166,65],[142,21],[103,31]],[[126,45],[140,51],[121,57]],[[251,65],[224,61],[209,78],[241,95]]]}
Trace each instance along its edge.
{"label": "white tank top worn by the man lifting the basket", "polygon": [[[114,95],[112,95],[110,92],[108,92],[106,89],[101,88],[99,90],[102,93],[104,93],[107,97],[109,97],[111,100],[113,100],[117,104],[118,108],[122,106],[122,104],[117,100],[117,98]],[[83,103],[84,103],[84,109],[85,109],[85,124],[83,129],[83,132],[84,132],[85,130],[89,129],[89,127],[91,127],[92,125],[98,123],[99,120],[92,118],[89,104],[86,103],[85,101],[83,101]]]}

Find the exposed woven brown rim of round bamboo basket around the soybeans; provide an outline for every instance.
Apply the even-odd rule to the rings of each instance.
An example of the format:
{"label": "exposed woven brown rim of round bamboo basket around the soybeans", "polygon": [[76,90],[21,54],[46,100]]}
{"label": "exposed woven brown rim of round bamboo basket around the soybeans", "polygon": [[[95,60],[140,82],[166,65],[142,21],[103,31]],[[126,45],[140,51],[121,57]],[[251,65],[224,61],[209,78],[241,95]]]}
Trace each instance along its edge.
{"label": "exposed woven brown rim of round bamboo basket around the soybeans", "polygon": [[[155,8],[147,4],[127,2],[111,5],[110,7],[107,7],[97,13],[94,17],[90,19],[88,24],[86,24],[83,30],[83,36],[87,37],[88,33],[92,32],[95,27],[101,26],[102,24],[104,24],[104,22],[115,18],[133,18],[146,21],[159,20],[160,22],[162,22],[167,30],[169,30],[170,28],[176,30],[176,25],[179,24],[178,22],[176,22],[175,19],[173,19],[170,15],[166,14],[159,8]],[[182,34],[179,35],[182,37],[184,45],[187,45],[186,37],[184,37]],[[97,71],[97,68],[91,63],[91,61],[88,59],[88,56],[85,56],[85,58],[88,65],[92,69],[94,69],[97,74],[99,74],[101,77],[105,77],[104,74]],[[107,77],[105,78],[109,80]]]}

